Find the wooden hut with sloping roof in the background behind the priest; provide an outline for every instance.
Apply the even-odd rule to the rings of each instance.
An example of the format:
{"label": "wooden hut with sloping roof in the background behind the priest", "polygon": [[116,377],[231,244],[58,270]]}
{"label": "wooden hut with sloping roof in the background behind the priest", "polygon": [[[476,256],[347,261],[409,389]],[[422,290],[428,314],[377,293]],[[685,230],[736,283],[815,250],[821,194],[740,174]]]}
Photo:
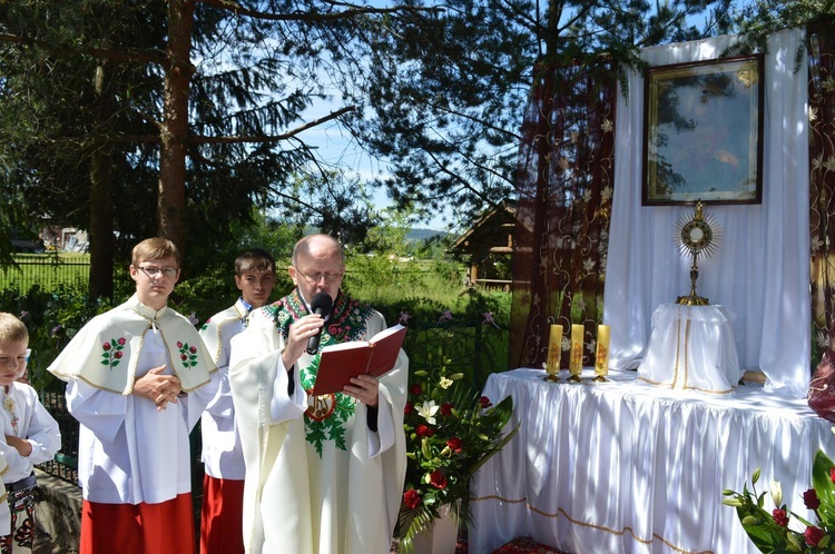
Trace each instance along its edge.
{"label": "wooden hut with sloping roof in the background behind the priest", "polygon": [[452,256],[469,263],[469,286],[510,288],[514,226],[515,210],[507,205],[495,207],[448,249]]}

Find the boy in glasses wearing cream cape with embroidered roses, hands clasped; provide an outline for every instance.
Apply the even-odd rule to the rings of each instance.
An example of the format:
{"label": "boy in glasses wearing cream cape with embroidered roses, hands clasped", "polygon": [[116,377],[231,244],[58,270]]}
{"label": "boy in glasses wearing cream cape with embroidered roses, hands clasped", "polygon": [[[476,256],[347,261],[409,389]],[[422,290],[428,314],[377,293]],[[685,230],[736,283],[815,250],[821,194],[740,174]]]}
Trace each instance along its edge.
{"label": "boy in glasses wearing cream cape with embroidered roses, hands clasped", "polygon": [[136,245],[136,294],[87,323],[49,366],[68,382],[80,424],[80,554],[195,550],[188,433],[217,379],[197,329],[167,307],[179,265],[170,240]]}

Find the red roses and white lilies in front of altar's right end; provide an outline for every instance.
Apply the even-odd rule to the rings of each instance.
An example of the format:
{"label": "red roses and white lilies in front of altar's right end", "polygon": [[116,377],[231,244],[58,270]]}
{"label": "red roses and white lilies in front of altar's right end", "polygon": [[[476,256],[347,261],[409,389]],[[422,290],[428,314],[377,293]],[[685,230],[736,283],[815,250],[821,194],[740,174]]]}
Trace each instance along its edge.
{"label": "red roses and white lilies in front of altar's right end", "polygon": [[[835,432],[835,428],[833,428]],[[757,493],[759,468],[752,476],[750,491],[744,485],[743,492],[725,491],[724,504],[736,507],[737,516],[760,552],[835,552],[835,463],[818,451],[812,465],[812,488],[803,493],[803,502],[815,512],[815,523],[808,522],[792,512],[783,502],[779,482],[769,488],[774,510],[766,511],[766,492]],[[797,531],[798,523],[803,531]],[[795,528],[790,528],[794,526]]]}

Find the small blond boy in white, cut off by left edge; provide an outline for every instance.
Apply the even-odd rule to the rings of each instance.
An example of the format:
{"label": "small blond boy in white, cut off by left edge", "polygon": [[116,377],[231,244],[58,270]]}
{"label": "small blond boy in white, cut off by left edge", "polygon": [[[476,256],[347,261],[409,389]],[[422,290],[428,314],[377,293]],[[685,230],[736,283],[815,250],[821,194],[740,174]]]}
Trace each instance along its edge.
{"label": "small blond boy in white, cut off by left edge", "polygon": [[11,512],[11,532],[0,537],[2,554],[32,552],[33,468],[52,459],[61,448],[58,422],[38,400],[38,393],[17,380],[26,372],[28,345],[26,325],[11,314],[0,313],[0,425],[3,427],[0,453],[9,464],[3,483]]}

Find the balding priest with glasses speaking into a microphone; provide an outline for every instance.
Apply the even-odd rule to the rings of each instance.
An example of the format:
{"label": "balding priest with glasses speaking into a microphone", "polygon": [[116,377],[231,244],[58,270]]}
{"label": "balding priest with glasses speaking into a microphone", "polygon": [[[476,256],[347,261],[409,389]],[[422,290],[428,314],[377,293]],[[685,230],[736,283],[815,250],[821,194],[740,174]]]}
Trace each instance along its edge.
{"label": "balding priest with glasses speaking into a microphone", "polygon": [[[409,359],[380,378],[312,396],[321,349],[386,328],[350,298],[342,247],[302,238],[294,290],[252,314],[233,339],[229,380],[246,462],[244,543],[249,554],[389,554],[405,475],[403,409]],[[315,313],[326,293],[328,313]]]}

